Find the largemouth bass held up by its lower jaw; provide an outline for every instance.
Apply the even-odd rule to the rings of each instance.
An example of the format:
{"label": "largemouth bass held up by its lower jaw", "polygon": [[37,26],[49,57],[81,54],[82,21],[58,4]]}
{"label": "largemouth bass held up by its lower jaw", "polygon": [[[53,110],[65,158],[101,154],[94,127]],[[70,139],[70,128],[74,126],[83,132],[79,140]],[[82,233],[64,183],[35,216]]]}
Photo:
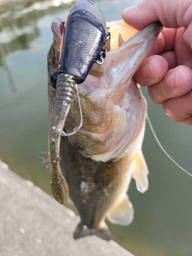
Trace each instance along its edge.
{"label": "largemouth bass held up by its lower jaw", "polygon": [[[153,23],[134,36],[137,31],[122,21],[107,26],[111,32],[111,46],[107,47],[104,63],[95,64],[86,80],[78,85],[82,127],[73,136],[59,138],[57,161],[65,181],[61,175],[58,183],[67,182],[69,196],[81,219],[74,232],[75,239],[95,234],[110,240],[105,218],[119,225],[129,225],[133,220],[133,205],[126,194],[131,179],[136,180],[141,193],[148,189],[148,169],[141,150],[146,101],[134,80],[134,74],[152,49],[161,25]],[[53,43],[48,53],[51,119],[57,117],[57,113],[54,113],[57,101],[55,92],[64,29],[65,19],[53,21]],[[79,122],[75,97],[65,132],[72,132]],[[53,177],[53,169],[51,173]],[[55,197],[58,194],[57,186]],[[54,188],[53,184],[52,191]]]}

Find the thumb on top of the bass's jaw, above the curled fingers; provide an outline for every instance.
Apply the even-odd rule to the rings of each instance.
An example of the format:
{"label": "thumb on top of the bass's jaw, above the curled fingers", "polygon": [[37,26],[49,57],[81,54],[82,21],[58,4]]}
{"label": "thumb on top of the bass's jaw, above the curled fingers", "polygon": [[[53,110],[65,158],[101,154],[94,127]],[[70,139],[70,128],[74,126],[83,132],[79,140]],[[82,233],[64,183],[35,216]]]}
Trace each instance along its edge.
{"label": "thumb on top of the bass's jaw, above the curled fingers", "polygon": [[122,18],[138,30],[158,20],[164,27],[179,28],[190,23],[191,10],[191,0],[143,0],[138,6],[126,8]]}

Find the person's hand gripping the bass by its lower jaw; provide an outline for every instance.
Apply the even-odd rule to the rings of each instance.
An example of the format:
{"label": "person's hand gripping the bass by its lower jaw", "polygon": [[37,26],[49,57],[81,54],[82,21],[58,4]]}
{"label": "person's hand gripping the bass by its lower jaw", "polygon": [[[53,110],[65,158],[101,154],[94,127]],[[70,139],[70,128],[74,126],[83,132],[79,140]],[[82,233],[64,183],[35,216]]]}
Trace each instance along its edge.
{"label": "person's hand gripping the bass by its lower jaw", "polygon": [[187,125],[192,124],[191,12],[191,0],[143,0],[122,12],[124,21],[138,30],[158,20],[165,27],[135,79],[148,86],[150,97],[162,104],[167,116]]}

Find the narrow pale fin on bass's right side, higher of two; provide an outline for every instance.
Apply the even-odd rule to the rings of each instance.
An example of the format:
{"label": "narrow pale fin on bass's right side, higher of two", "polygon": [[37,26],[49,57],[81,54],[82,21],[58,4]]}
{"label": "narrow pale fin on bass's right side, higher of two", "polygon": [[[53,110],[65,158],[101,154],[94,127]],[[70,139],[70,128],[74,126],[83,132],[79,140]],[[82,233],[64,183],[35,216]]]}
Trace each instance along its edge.
{"label": "narrow pale fin on bass's right side, higher of two", "polygon": [[137,190],[144,193],[148,189],[148,168],[141,150],[132,163],[131,171],[132,177],[136,181]]}

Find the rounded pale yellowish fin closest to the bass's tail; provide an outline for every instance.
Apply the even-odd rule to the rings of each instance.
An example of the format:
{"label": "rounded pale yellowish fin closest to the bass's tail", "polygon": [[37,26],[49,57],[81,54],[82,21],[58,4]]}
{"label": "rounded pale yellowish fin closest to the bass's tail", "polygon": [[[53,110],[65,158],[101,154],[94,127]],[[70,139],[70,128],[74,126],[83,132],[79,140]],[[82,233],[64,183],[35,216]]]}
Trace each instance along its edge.
{"label": "rounded pale yellowish fin closest to the bass's tail", "polygon": [[115,207],[108,212],[107,218],[113,224],[126,226],[133,221],[133,215],[133,205],[130,202],[129,197],[124,194]]}

